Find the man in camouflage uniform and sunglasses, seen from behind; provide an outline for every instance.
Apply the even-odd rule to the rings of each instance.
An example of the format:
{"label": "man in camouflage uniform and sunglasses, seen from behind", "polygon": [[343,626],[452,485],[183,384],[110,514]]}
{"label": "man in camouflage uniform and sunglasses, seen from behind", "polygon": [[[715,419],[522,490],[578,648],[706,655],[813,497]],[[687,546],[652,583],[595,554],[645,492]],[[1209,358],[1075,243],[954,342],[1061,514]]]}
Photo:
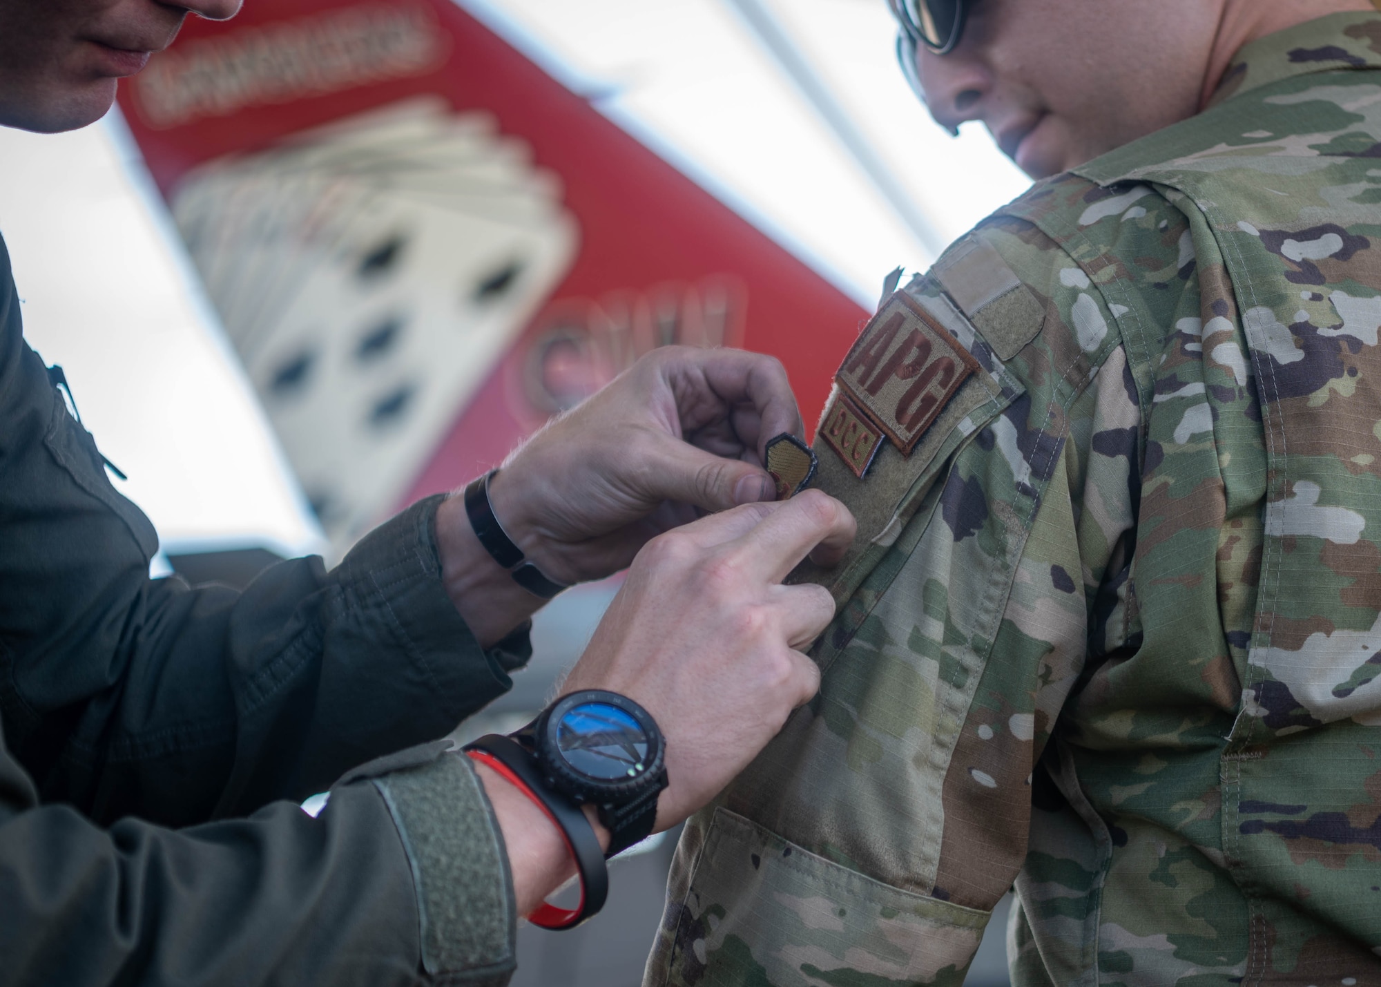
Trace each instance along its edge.
{"label": "man in camouflage uniform and sunglasses, seen from behind", "polygon": [[1381,15],[894,10],[1040,181],[844,354],[822,688],[645,983],[958,984],[1014,885],[1018,984],[1381,983]]}

